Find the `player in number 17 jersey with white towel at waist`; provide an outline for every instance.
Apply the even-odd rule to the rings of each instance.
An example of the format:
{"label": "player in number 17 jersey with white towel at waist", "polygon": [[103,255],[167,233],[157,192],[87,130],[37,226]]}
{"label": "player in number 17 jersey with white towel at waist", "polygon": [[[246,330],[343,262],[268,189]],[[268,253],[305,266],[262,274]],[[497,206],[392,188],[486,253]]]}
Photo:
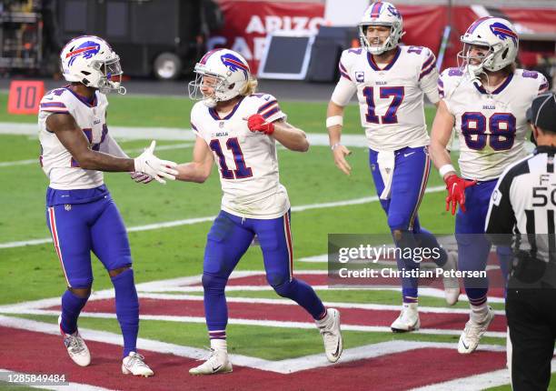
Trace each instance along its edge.
{"label": "player in number 17 jersey with white towel at waist", "polygon": [[[344,50],[340,59],[341,77],[326,127],[334,163],[350,175],[346,156],[351,152],[341,141],[343,111],[357,94],[372,178],[396,246],[438,248],[434,262],[452,270],[456,255],[447,254],[417,216],[431,167],[423,95],[438,105],[436,58],[427,47],[399,45],[403,34],[402,15],[392,4],[376,2],[367,8],[359,24],[362,47]],[[398,258],[397,264],[400,270],[419,268],[412,259]],[[444,279],[444,290],[454,305],[460,295],[457,278]],[[391,327],[393,332],[420,327],[417,278],[402,278],[402,312]]]}

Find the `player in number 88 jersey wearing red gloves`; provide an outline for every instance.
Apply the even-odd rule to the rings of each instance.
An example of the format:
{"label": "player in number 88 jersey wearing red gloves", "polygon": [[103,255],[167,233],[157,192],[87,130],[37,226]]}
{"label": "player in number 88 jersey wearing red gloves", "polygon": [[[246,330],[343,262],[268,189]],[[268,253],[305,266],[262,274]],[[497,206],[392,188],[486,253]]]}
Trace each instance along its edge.
{"label": "player in number 88 jersey wearing red gloves", "polygon": [[[461,38],[461,66],[442,72],[442,98],[432,125],[431,156],[446,182],[446,210],[457,205],[455,236],[463,271],[485,270],[491,243],[482,235],[491,193],[504,168],[520,160],[528,130],[525,112],[532,99],[546,91],[545,77],[516,69],[519,38],[513,25],[498,17],[483,17]],[[458,133],[461,175],[451,164],[445,146]],[[498,247],[502,273],[507,274],[511,250]],[[460,337],[458,351],[472,353],[494,313],[487,306],[488,280],[464,278],[471,306],[470,320]]]}

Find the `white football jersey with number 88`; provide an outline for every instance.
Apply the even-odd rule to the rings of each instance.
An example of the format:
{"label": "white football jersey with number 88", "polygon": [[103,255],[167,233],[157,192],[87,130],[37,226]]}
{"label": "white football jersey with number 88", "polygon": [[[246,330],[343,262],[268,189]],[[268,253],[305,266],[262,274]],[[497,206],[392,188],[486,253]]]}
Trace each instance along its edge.
{"label": "white football jersey with number 88", "polygon": [[532,99],[548,88],[546,78],[516,69],[496,90],[473,83],[458,68],[445,69],[439,93],[455,119],[462,177],[488,181],[527,155],[530,128],[525,118]]}

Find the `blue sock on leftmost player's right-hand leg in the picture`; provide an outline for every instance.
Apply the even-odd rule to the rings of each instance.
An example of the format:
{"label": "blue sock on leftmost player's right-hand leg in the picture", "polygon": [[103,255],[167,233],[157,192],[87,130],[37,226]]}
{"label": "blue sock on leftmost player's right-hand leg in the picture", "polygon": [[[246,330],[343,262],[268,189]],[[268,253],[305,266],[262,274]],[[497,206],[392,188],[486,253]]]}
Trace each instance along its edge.
{"label": "blue sock on leftmost player's right-hand leg in the picture", "polygon": [[139,334],[139,298],[134,284],[134,271],[127,269],[111,277],[115,290],[116,317],[124,336],[124,357],[137,351]]}

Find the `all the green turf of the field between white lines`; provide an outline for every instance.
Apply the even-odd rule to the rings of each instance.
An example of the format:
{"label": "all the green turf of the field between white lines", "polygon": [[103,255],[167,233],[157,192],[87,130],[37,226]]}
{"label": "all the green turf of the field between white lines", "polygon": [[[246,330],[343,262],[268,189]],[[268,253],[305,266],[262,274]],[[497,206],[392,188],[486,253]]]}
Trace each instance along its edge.
{"label": "all the green turf of the field between white lines", "polygon": [[[35,123],[35,115],[7,115],[6,94],[0,94],[0,122]],[[280,98],[280,97],[279,97]],[[181,97],[110,96],[109,125],[189,127],[191,102]],[[289,121],[311,133],[325,133],[325,103],[282,102]],[[428,124],[434,109],[425,112]],[[344,133],[362,135],[356,105],[346,109]],[[119,140],[124,149],[143,148],[148,140]],[[172,145],[178,142],[159,142]],[[181,142],[179,143],[181,144]],[[0,162],[35,159],[39,143],[35,136],[0,135]],[[162,158],[185,162],[192,148],[161,150]],[[130,155],[138,155],[130,152]],[[352,148],[349,162],[352,175],[345,176],[333,165],[330,148],[313,145],[307,154],[279,150],[281,182],[288,189],[293,206],[326,203],[375,195],[368,167],[368,154]],[[40,167],[32,165],[0,166],[5,191],[0,193],[0,243],[45,238],[46,178]],[[118,205],[126,226],[214,216],[220,209],[217,173],[204,185],[169,183],[135,185],[126,174],[106,174],[105,181]],[[443,185],[436,171],[429,186]],[[422,226],[437,234],[453,232],[452,216],[443,210],[444,192],[425,195],[420,209]],[[130,233],[134,273],[137,283],[199,275],[202,271],[204,244],[210,222]],[[388,234],[386,217],[377,202],[357,206],[328,207],[293,213],[294,257],[318,256],[328,251],[327,236],[332,233]],[[295,264],[296,269],[325,269],[314,263]],[[103,266],[93,261],[94,290],[111,288]],[[259,247],[243,256],[238,270],[263,270]],[[51,244],[0,249],[0,305],[60,296],[65,291],[65,277]],[[384,291],[319,291],[325,301],[399,304],[399,293]],[[271,292],[236,292],[228,296],[276,297]],[[421,297],[421,306],[444,306],[442,299]],[[466,304],[458,305],[465,308]],[[499,309],[502,306],[496,306]],[[25,316],[55,324],[55,316]],[[115,319],[80,319],[80,326],[119,334]],[[322,340],[316,330],[279,327],[229,326],[230,350],[247,356],[283,359],[322,353]],[[208,345],[204,324],[179,324],[142,321],[140,336],[185,346]],[[345,346],[354,347],[388,340],[442,341],[457,343],[458,336],[420,334],[345,332]],[[268,341],[264,345],[253,341]],[[503,345],[503,338],[484,338],[485,344]],[[18,389],[22,389],[18,387]]]}

